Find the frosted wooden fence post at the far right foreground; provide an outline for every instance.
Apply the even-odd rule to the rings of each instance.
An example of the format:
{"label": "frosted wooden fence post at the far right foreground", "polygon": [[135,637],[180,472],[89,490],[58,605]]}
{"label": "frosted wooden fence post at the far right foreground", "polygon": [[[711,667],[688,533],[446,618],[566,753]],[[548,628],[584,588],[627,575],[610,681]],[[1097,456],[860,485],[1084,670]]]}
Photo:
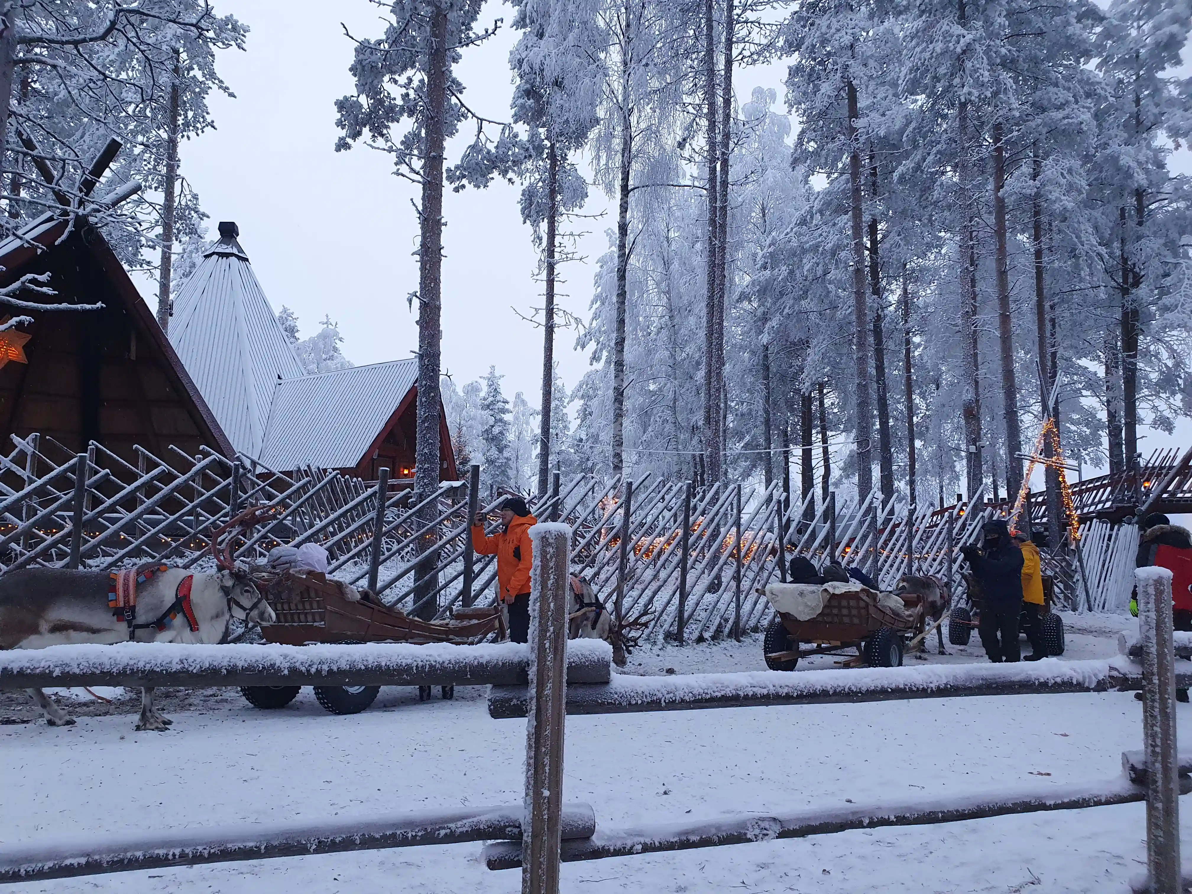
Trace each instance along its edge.
{"label": "frosted wooden fence post at the far right foreground", "polygon": [[1147,755],[1147,871],[1153,894],[1179,894],[1180,781],[1175,744],[1172,572],[1135,571],[1142,634],[1142,739]]}

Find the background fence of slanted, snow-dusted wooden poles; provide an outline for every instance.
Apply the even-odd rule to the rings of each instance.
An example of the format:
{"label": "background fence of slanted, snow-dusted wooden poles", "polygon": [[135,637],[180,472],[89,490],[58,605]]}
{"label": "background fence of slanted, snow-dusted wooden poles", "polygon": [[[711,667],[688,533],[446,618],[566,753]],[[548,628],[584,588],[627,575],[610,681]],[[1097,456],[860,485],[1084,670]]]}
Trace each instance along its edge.
{"label": "background fence of slanted, snow-dusted wooden poles", "polygon": [[[162,459],[139,447],[136,464],[92,442],[81,454],[45,435],[13,437],[0,457],[0,573],[27,566],[110,569],[147,561],[185,566],[209,555],[209,535],[248,505],[268,519],[235,551],[263,561],[273,546],[317,542],[329,571],[356,586],[375,582],[390,606],[420,617],[446,617],[455,606],[493,601],[492,555],[472,551],[470,523],[498,499],[479,499],[479,470],[430,495],[408,483],[367,483],[339,472],[280,473],[246,457],[230,461],[169,448]],[[625,496],[632,489],[632,501]],[[963,591],[958,547],[1004,507],[981,493],[945,509],[818,492],[803,498],[780,484],[751,491],[737,484],[694,488],[644,476],[601,482],[552,477],[530,498],[540,521],[575,532],[569,559],[600,598],[635,619],[654,641],[681,642],[764,626],[760,590],[784,579],[795,555],[839,559],[890,589],[904,573],[936,575]],[[687,522],[684,524],[684,521]],[[497,524],[490,521],[490,530]],[[1047,557],[1063,608],[1104,610],[1129,591],[1130,526],[1086,524],[1084,575],[1075,555]],[[622,540],[626,541],[622,559]]]}

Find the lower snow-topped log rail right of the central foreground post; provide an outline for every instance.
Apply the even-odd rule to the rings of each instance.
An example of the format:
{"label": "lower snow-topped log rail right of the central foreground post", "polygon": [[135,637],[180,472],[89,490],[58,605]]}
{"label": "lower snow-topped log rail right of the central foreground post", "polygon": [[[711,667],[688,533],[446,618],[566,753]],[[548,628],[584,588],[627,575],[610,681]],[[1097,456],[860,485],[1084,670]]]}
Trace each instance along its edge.
{"label": "lower snow-topped log rail right of the central foreground post", "polygon": [[[1192,780],[1180,780],[1180,791],[1192,791]],[[848,832],[883,826],[925,826],[938,822],[1005,817],[1039,811],[1074,811],[1147,800],[1147,789],[1128,778],[1106,780],[1094,786],[1039,786],[1020,791],[997,791],[962,797],[921,799],[902,805],[850,805],[791,813],[734,813],[693,822],[642,828],[600,830],[591,838],[563,843],[564,863],[639,853],[721,848],[730,844],[771,842],[780,838]],[[484,848],[489,869],[516,869],[521,845],[495,842]]]}

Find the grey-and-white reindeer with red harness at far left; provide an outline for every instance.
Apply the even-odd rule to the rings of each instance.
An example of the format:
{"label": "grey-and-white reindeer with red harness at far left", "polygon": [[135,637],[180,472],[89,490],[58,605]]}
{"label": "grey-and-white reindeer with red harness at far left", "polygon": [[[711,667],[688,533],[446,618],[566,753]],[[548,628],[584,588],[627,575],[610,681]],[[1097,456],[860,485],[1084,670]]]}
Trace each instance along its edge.
{"label": "grey-and-white reindeer with red harness at far left", "polygon": [[[244,513],[212,534],[219,571],[197,572],[153,564],[131,588],[130,600],[114,596],[107,571],[20,569],[0,577],[0,648],[44,648],[75,642],[217,644],[228,639],[231,619],[272,623],[273,609],[247,571],[231,560],[230,542],[221,551],[218,535],[256,516]],[[136,579],[134,575],[134,579]],[[119,601],[119,606],[116,606]],[[74,720],[41,689],[29,694],[50,726]],[[173,722],[154,707],[154,689],[141,690],[137,730],[164,731]]]}

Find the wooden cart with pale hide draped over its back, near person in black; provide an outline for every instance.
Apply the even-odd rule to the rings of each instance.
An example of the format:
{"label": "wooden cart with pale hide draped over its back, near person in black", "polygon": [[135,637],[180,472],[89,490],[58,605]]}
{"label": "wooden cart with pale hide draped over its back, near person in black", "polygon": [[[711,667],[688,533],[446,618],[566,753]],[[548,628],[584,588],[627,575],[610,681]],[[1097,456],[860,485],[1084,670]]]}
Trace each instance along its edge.
{"label": "wooden cart with pale hide draped over its back, near person in black", "polygon": [[[850,652],[853,654],[846,666],[901,666],[904,639],[921,633],[924,611],[919,596],[907,594],[899,598],[908,614],[882,606],[877,594],[859,585],[828,596],[822,610],[807,621],[778,611],[765,629],[766,666],[791,671],[800,658]],[[805,642],[812,647],[803,648]]]}

